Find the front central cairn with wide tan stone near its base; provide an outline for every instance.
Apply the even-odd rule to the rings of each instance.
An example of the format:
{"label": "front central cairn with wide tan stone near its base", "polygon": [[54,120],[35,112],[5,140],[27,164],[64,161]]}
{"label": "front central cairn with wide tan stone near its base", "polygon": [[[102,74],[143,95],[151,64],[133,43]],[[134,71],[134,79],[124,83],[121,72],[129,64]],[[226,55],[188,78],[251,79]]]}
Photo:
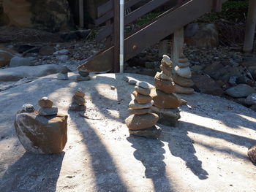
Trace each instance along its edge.
{"label": "front central cairn with wide tan stone near its base", "polygon": [[138,82],[135,91],[132,92],[132,101],[129,102],[129,117],[125,120],[129,128],[129,134],[147,137],[151,139],[159,138],[162,129],[155,126],[158,115],[151,113],[153,104],[150,96],[151,88],[148,83]]}

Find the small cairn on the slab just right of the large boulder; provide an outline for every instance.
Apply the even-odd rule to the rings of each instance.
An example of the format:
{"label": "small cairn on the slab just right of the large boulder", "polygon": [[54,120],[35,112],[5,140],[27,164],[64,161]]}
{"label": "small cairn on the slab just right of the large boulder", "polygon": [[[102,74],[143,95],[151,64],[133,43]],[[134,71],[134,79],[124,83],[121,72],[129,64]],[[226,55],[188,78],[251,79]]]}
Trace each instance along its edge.
{"label": "small cairn on the slab just right of the large boulder", "polygon": [[72,111],[84,111],[86,110],[86,100],[84,99],[85,94],[82,88],[78,88],[72,97],[72,104],[69,105],[69,110]]}

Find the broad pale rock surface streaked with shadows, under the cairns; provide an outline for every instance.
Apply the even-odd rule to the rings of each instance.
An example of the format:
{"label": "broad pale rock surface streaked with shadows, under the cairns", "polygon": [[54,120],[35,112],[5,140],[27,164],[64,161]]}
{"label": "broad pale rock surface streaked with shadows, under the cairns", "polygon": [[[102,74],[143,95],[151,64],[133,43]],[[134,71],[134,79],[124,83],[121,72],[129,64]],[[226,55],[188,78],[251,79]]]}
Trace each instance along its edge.
{"label": "broad pale rock surface streaked with shadows, under the cairns", "polygon": [[[159,140],[129,136],[124,119],[134,86],[121,74],[89,82],[56,75],[0,92],[0,191],[256,191],[256,113],[218,96],[179,95],[178,126],[162,127]],[[153,83],[153,77],[125,74]],[[86,92],[85,117],[68,111],[76,88]],[[15,136],[15,112],[39,108],[48,96],[68,113],[68,141],[56,155],[26,153]]]}

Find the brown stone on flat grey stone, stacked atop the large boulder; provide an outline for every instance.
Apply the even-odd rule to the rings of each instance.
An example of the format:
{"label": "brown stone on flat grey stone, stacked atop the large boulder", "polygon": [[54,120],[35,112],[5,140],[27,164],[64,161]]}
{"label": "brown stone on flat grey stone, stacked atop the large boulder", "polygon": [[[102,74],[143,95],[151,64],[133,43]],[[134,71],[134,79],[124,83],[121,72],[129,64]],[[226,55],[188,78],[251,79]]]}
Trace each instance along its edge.
{"label": "brown stone on flat grey stone, stacked atop the large boulder", "polygon": [[41,107],[38,111],[39,115],[48,116],[58,113],[58,107],[53,107],[53,101],[50,101],[46,96],[39,99],[38,104]]}

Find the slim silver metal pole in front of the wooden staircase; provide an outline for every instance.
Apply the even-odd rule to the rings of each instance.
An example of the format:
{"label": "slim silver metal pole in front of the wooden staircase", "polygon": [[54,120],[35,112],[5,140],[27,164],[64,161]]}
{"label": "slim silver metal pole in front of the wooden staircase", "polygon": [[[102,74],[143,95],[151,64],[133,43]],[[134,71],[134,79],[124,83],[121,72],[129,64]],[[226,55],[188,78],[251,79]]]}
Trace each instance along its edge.
{"label": "slim silver metal pole in front of the wooden staircase", "polygon": [[120,0],[120,73],[124,73],[124,0]]}

